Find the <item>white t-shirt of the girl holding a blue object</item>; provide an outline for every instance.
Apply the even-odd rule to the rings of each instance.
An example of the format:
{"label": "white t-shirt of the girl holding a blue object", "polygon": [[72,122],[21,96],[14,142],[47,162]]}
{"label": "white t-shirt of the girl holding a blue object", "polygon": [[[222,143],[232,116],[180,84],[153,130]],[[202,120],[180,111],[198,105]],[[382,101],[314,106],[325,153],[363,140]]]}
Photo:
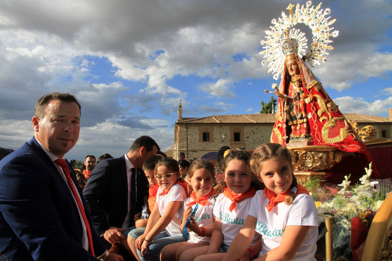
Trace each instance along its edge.
{"label": "white t-shirt of the girl holding a blue object", "polygon": [[[214,205],[215,205],[214,196],[215,196],[215,194],[213,194],[209,197],[208,201],[210,203],[208,203],[207,205],[203,206],[203,205],[198,204],[198,209],[196,210],[194,219],[199,224],[199,227],[205,227],[206,229],[214,227],[215,215],[214,215],[214,213],[212,213],[212,210],[214,209]],[[187,208],[187,204],[192,201],[195,201],[195,200],[191,197],[187,198],[184,201],[183,210],[185,210]],[[194,207],[194,205],[192,207]],[[201,237],[201,236],[198,236],[192,230],[189,231],[189,240],[188,240],[189,243],[199,243],[199,242],[208,243],[208,242],[210,242],[210,239],[211,238],[209,236]]]}

